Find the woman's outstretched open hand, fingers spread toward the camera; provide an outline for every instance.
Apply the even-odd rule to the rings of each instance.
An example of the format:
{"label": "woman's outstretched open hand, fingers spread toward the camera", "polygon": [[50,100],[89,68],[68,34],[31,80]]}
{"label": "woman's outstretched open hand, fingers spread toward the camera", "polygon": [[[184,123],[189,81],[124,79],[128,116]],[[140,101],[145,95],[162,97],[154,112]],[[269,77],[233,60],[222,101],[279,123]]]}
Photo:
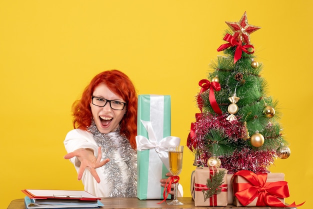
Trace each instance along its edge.
{"label": "woman's outstretched open hand, fingers spread toward the camera", "polygon": [[64,159],[70,159],[72,157],[77,157],[77,159],[80,161],[80,166],[78,169],[78,180],[81,179],[82,174],[85,169],[88,169],[91,175],[94,177],[96,182],[100,182],[100,178],[98,174],[95,171],[95,168],[103,166],[106,162],[109,161],[109,158],[106,158],[101,161],[101,147],[98,147],[98,156],[95,158],[93,150],[91,149],[85,149],[85,148],[79,148],[72,152],[67,153],[64,156]]}

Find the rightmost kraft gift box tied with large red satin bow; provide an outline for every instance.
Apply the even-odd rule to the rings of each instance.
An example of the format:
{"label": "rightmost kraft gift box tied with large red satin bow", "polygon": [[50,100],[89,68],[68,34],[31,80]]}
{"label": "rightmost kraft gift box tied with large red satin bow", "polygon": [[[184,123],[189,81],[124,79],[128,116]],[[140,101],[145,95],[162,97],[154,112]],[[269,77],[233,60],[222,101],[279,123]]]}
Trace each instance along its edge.
{"label": "rightmost kraft gift box tied with large red satin bow", "polygon": [[259,173],[240,170],[232,176],[232,189],[235,206],[295,207],[294,202],[285,205],[289,188],[283,173]]}

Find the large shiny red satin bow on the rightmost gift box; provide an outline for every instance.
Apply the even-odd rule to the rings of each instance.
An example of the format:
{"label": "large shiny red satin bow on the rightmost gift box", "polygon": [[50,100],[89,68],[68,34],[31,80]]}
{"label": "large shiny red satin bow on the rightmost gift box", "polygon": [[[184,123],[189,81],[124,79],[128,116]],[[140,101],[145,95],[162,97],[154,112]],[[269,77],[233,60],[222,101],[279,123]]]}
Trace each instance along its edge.
{"label": "large shiny red satin bow on the rightmost gift box", "polygon": [[289,196],[289,189],[286,181],[266,182],[267,173],[255,174],[249,170],[240,170],[233,174],[243,177],[247,183],[233,182],[233,192],[239,202],[246,206],[257,197],[256,206],[275,206],[275,207],[295,207],[294,202],[285,205],[278,198]]}

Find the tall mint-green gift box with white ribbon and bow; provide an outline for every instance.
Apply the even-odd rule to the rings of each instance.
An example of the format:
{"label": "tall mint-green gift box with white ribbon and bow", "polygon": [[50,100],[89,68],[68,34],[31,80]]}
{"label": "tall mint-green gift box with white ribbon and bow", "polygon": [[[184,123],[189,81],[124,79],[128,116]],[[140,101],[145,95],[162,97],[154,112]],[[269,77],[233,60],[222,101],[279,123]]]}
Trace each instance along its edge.
{"label": "tall mint-green gift box with white ribbon and bow", "polygon": [[164,188],[159,181],[168,178],[168,146],[180,143],[180,138],[170,136],[170,113],[170,95],[138,95],[138,199],[163,199]]}

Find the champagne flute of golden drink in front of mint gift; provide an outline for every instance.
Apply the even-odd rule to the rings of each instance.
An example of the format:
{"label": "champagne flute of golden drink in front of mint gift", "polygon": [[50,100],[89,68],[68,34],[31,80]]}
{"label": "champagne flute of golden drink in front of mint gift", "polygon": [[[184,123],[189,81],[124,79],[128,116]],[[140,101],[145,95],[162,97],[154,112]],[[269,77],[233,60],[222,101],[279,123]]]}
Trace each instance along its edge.
{"label": "champagne flute of golden drink in front of mint gift", "polygon": [[[178,176],[182,169],[182,152],[183,146],[168,146],[169,171],[173,176]],[[175,178],[174,178],[175,179]],[[167,204],[183,204],[177,199],[178,182],[174,183],[174,198]]]}

